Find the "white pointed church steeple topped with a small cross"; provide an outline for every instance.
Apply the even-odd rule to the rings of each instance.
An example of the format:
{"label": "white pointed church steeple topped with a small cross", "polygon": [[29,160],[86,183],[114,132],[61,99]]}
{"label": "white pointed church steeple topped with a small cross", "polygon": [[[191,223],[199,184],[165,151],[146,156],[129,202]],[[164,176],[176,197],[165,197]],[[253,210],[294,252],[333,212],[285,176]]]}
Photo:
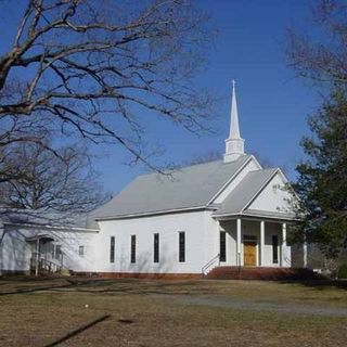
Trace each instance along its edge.
{"label": "white pointed church steeple topped with a small cross", "polygon": [[231,99],[231,112],[230,112],[230,132],[229,138],[226,140],[226,154],[224,163],[236,160],[240,155],[245,153],[244,142],[245,140],[240,136],[239,127],[239,113],[235,93],[235,81],[232,80],[232,99]]}

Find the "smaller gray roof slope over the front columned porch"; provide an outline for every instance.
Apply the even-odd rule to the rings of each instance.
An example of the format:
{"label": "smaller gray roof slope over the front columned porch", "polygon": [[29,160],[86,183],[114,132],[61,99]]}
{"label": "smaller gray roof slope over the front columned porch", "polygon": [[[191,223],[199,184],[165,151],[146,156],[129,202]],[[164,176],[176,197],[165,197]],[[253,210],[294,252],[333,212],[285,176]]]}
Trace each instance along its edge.
{"label": "smaller gray roof slope over the front columned porch", "polygon": [[248,172],[214,213],[214,216],[241,213],[277,170],[277,168],[271,168]]}

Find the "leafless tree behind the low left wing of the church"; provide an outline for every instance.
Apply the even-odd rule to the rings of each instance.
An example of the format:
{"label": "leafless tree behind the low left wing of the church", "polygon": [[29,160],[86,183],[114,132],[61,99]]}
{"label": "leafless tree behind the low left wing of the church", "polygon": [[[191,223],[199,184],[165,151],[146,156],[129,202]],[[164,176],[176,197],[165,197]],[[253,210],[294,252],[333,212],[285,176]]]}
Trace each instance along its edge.
{"label": "leafless tree behind the low left wing of the church", "polygon": [[7,166],[15,175],[0,183],[2,207],[61,214],[86,213],[100,206],[106,195],[90,166],[90,156],[78,146],[57,150],[40,144],[16,144]]}

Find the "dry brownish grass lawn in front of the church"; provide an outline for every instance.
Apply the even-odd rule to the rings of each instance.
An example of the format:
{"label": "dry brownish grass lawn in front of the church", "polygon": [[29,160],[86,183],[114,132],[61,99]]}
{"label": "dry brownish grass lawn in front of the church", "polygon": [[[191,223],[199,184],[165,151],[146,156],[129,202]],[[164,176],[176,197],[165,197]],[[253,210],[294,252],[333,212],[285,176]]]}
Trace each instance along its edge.
{"label": "dry brownish grass lawn in front of the church", "polygon": [[346,345],[330,283],[0,280],[0,346]]}

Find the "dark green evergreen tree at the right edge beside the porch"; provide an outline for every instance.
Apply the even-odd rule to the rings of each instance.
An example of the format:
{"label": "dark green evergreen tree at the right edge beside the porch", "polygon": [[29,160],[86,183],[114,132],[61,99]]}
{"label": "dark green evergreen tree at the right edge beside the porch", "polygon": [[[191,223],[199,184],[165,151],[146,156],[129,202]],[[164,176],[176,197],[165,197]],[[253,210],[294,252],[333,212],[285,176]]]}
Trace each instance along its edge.
{"label": "dark green evergreen tree at the right edge beside the porch", "polygon": [[[333,258],[347,246],[347,92],[336,88],[309,118],[312,131],[301,145],[307,159],[295,184],[304,222],[296,236],[317,243]],[[303,233],[304,231],[304,233]]]}

